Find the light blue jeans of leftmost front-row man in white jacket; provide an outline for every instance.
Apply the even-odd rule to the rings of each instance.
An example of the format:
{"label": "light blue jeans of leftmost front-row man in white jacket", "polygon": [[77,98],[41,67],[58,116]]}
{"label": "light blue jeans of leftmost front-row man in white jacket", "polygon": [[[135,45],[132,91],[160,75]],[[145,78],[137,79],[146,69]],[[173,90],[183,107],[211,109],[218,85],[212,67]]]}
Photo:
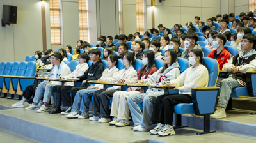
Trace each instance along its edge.
{"label": "light blue jeans of leftmost front-row man in white jacket", "polygon": [[45,83],[40,83],[36,89],[35,97],[33,99],[33,102],[39,103],[41,100],[43,94],[44,94],[44,99],[43,102],[50,102],[51,94],[52,94],[52,88],[56,85],[59,84],[47,84],[44,88]]}

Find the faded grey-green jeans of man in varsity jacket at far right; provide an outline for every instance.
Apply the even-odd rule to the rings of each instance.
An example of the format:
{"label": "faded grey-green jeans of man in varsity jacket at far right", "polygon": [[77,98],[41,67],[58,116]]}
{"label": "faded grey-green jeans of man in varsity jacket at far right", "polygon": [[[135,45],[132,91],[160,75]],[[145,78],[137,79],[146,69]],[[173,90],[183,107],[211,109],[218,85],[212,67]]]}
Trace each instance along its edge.
{"label": "faded grey-green jeans of man in varsity jacket at far right", "polygon": [[223,79],[221,91],[220,91],[220,98],[217,106],[226,108],[232,89],[236,87],[242,87],[242,86],[241,84],[239,84],[239,82],[237,82],[236,79],[233,79],[232,75],[227,79]]}

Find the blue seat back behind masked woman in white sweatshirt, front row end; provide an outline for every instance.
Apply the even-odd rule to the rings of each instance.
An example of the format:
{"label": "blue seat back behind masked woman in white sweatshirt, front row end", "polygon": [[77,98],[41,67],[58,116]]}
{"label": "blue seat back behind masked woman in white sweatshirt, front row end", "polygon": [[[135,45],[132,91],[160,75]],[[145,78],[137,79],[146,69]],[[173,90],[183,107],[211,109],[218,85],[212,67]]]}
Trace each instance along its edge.
{"label": "blue seat back behind masked woman in white sweatshirt, front row end", "polygon": [[203,57],[203,62],[206,64],[209,72],[208,86],[214,87],[216,85],[217,78],[219,75],[218,61],[216,61],[216,59],[212,59],[209,57]]}

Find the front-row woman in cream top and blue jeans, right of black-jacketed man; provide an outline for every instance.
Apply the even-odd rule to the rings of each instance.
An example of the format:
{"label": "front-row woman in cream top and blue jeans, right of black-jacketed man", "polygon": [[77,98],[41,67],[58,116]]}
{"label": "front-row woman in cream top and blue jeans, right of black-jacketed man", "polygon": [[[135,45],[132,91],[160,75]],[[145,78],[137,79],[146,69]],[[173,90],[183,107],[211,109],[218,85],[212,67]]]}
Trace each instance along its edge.
{"label": "front-row woman in cream top and blue jeans, right of black-jacketed man", "polygon": [[[116,68],[117,64],[118,64],[118,57],[116,56],[116,54],[113,54],[113,53],[109,54],[108,56],[109,68],[106,68],[103,71],[100,79],[113,77],[113,75],[115,75],[116,72],[119,71],[119,69]],[[67,118],[77,118],[77,117],[78,119],[88,118],[90,98],[93,96],[93,93],[98,90],[102,92],[106,91],[106,89],[103,89],[102,84],[96,84],[95,86],[90,86],[90,88],[93,88],[93,89],[82,89],[77,91],[76,96],[74,98],[74,103],[72,105],[71,112],[66,116]],[[81,115],[79,114],[79,111],[81,111]],[[94,115],[93,117],[90,117],[90,121],[98,121],[98,120],[99,120],[99,112],[94,110]]]}

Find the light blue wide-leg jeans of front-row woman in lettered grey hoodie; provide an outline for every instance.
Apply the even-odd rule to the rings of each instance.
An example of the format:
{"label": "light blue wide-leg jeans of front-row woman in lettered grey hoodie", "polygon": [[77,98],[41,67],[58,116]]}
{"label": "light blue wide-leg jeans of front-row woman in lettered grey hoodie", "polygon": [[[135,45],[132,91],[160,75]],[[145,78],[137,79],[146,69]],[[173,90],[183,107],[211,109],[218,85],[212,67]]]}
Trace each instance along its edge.
{"label": "light blue wide-leg jeans of front-row woman in lettered grey hoodie", "polygon": [[[143,128],[147,128],[152,125],[152,121],[150,121],[152,112],[153,112],[153,104],[156,103],[156,98],[160,95],[164,95],[163,92],[147,94],[133,94],[128,96],[127,102],[130,108],[130,112],[132,115],[132,120],[134,125],[141,125]],[[138,105],[138,103],[143,102],[143,112]]]}

